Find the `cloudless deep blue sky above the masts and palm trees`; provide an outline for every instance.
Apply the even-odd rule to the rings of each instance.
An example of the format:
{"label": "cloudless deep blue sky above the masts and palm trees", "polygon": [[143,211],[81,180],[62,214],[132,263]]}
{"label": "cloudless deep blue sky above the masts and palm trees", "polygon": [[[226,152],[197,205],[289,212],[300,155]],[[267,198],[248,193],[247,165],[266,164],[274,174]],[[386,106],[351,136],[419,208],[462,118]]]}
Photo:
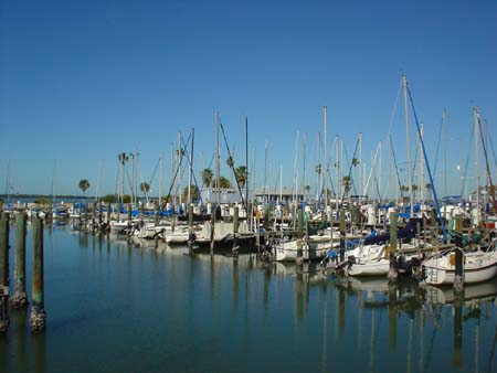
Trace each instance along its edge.
{"label": "cloudless deep blue sky above the masts and palm trees", "polygon": [[[475,105],[490,139],[495,134],[496,1],[1,0],[0,193],[8,170],[11,191],[52,193],[54,161],[56,193],[80,193],[78,181],[87,179],[94,194],[99,170],[101,194],[115,193],[117,154],[134,150],[147,182],[165,152],[167,190],[179,130],[195,129],[197,174],[209,166],[215,110],[236,164],[245,163],[248,117],[250,172],[255,154],[260,185],[267,141],[266,184],[278,185],[282,163],[284,184],[292,186],[297,131],[304,177],[305,135],[305,183],[315,188],[325,105],[331,162],[337,135],[350,159],[362,132],[367,173],[371,151],[383,141],[376,172],[385,180],[390,126],[401,169],[408,159],[403,97],[398,100],[402,72],[432,168],[447,110],[447,192],[458,193],[456,166],[468,153],[466,177],[474,183]],[[437,183],[441,163],[438,156]],[[157,173],[152,194],[158,181]]]}

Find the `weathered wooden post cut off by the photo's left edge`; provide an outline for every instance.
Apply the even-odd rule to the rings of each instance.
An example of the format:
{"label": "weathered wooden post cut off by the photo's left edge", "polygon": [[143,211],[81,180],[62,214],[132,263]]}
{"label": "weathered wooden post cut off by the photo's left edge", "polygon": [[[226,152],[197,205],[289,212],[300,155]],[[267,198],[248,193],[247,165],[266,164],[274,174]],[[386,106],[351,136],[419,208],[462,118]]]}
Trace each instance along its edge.
{"label": "weathered wooden post cut off by the photo's left edge", "polygon": [[9,327],[9,220],[0,219],[0,333]]}

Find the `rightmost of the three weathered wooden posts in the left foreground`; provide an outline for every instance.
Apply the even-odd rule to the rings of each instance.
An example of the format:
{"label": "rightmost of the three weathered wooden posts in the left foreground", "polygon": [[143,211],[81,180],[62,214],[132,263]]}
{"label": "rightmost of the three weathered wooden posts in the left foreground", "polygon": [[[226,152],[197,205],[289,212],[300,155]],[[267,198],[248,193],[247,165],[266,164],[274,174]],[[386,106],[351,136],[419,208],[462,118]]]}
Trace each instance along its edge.
{"label": "rightmost of the three weathered wooden posts in the left foreground", "polygon": [[33,221],[33,305],[31,308],[31,331],[45,329],[46,313],[43,294],[43,221]]}

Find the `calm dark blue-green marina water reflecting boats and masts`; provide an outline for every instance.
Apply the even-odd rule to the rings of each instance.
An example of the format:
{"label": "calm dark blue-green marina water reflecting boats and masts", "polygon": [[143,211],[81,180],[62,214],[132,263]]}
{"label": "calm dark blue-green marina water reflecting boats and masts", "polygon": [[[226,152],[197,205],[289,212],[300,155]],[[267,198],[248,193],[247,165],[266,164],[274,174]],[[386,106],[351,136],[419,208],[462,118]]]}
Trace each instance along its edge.
{"label": "calm dark blue-green marina water reflecting boats and masts", "polygon": [[[46,331],[32,335],[28,313],[12,311],[0,372],[497,371],[496,281],[454,308],[441,303],[450,290],[248,255],[189,256],[71,227],[44,238]],[[31,236],[28,252],[30,281]]]}

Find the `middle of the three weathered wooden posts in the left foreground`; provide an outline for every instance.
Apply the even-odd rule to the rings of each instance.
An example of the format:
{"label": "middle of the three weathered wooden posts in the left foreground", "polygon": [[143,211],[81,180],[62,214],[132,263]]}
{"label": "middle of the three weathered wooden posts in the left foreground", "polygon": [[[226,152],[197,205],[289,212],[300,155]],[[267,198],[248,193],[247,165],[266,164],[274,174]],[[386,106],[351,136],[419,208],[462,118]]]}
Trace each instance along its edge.
{"label": "middle of the three weathered wooden posts in the left foreground", "polygon": [[15,292],[10,299],[10,303],[15,308],[28,306],[25,294],[25,232],[27,215],[19,213],[15,216]]}

